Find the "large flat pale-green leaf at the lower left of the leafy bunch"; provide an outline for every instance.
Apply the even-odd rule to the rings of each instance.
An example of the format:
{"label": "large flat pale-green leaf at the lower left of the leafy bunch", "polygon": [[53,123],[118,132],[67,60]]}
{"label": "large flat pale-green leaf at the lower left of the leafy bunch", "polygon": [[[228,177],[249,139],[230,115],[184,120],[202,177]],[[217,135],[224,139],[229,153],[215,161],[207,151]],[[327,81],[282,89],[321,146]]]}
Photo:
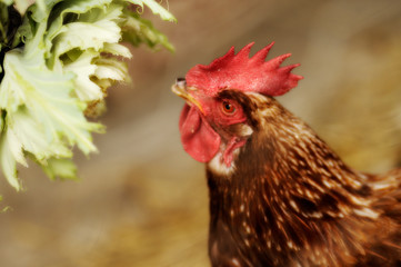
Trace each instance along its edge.
{"label": "large flat pale-green leaf at the lower left of the leafy bunch", "polygon": [[[6,76],[0,85],[0,108],[6,110],[2,131],[2,161],[6,177],[20,189],[16,162],[27,166],[23,152],[30,152],[41,165],[52,157],[71,157],[70,148],[77,145],[84,154],[96,151],[92,131],[102,126],[88,122],[82,111],[86,103],[71,97],[74,90],[71,72],[48,69],[40,53],[29,58],[14,49],[6,55]],[[4,149],[7,147],[7,149]]]}

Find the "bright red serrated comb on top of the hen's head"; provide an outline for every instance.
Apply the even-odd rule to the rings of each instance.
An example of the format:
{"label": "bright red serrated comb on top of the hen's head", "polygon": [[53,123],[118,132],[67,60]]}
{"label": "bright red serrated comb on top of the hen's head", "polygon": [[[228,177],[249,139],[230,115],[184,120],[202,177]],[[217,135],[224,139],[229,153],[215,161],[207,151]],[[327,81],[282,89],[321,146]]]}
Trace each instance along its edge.
{"label": "bright red serrated comb on top of the hen's head", "polygon": [[197,65],[186,76],[187,85],[214,96],[221,89],[231,88],[254,91],[268,96],[281,96],[298,85],[302,76],[291,73],[299,65],[280,67],[291,56],[285,53],[265,61],[274,42],[249,58],[254,42],[243,47],[237,55],[232,47],[223,57],[214,59],[209,66]]}

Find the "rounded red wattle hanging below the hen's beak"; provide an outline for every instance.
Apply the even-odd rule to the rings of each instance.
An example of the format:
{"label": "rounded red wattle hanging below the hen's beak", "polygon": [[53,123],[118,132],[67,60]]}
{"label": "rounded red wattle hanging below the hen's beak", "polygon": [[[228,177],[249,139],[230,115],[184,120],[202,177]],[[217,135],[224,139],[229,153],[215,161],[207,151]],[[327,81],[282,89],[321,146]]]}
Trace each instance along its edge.
{"label": "rounded red wattle hanging below the hen's beak", "polygon": [[208,162],[219,151],[220,136],[196,107],[186,103],[181,111],[179,127],[183,149],[196,160]]}

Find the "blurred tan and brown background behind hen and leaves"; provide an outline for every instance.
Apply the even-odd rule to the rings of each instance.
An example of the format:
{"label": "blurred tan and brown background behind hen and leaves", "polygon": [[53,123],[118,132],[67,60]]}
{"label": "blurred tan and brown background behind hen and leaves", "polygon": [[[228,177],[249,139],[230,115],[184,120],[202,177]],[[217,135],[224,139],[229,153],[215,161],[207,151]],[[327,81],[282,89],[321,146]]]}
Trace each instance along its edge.
{"label": "blurred tan and brown background behind hen and leaves", "polygon": [[23,192],[1,177],[1,267],[209,266],[204,168],[184,154],[177,77],[231,46],[275,41],[270,58],[304,76],[279,101],[352,167],[401,166],[401,1],[169,0],[178,23],[157,28],[176,53],[133,49],[132,85],[109,90],[99,154],[77,151],[80,181],[21,168]]}

